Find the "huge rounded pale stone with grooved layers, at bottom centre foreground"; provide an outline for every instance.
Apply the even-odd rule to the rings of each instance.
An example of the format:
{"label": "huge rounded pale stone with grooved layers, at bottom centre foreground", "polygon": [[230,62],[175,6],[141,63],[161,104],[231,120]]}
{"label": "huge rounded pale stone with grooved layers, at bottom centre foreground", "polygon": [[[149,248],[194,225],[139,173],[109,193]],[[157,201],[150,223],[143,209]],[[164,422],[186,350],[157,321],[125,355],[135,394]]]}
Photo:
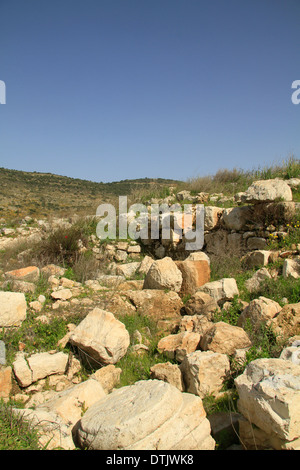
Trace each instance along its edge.
{"label": "huge rounded pale stone with grooved layers, at bottom centre foreground", "polygon": [[76,440],[94,450],[213,450],[202,400],[160,381],[115,390],[92,405]]}

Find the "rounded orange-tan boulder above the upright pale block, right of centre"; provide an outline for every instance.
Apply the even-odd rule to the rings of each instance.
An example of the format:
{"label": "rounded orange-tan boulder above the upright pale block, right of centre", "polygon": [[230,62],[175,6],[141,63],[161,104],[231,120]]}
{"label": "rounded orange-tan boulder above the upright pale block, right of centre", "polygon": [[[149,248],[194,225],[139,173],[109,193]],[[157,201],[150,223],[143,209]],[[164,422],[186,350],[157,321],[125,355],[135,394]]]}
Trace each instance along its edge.
{"label": "rounded orange-tan boulder above the upright pale block, right of centre", "polygon": [[232,355],[237,349],[251,346],[251,341],[243,328],[225,322],[215,323],[207,330],[200,342],[203,351],[213,351]]}

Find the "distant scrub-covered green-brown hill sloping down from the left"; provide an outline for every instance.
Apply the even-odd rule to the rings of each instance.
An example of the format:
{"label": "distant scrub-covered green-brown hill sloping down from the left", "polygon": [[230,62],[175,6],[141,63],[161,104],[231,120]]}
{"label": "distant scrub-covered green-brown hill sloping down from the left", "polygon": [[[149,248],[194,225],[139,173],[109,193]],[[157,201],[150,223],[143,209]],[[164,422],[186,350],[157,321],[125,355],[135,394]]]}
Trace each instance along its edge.
{"label": "distant scrub-covered green-brown hill sloping down from the left", "polygon": [[0,168],[0,217],[93,215],[118,196],[157,193],[181,182],[139,178],[112,183]]}

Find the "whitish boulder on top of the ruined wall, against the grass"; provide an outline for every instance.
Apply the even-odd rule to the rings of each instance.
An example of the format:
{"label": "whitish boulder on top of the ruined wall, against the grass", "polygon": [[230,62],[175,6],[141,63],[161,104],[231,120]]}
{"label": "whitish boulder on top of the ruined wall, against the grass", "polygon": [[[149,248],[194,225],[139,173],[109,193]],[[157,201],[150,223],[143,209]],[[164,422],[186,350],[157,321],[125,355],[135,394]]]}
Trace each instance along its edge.
{"label": "whitish boulder on top of the ruined wall, against the grass", "polygon": [[254,181],[242,196],[242,202],[257,204],[260,202],[292,201],[293,194],[286,181],[275,178]]}

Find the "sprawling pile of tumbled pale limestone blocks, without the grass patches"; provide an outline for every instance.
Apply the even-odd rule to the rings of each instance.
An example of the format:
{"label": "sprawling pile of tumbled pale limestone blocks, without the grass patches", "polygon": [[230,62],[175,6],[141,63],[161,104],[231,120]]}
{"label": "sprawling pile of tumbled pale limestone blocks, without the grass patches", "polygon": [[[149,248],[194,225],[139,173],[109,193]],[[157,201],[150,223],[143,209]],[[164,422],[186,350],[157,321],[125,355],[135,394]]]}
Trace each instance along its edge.
{"label": "sprawling pile of tumbled pale limestone blocks, without the grass patches", "polygon": [[[178,200],[187,197],[190,195],[183,192]],[[195,199],[204,200],[208,202],[209,197],[203,193]],[[207,255],[229,246],[241,248],[242,254],[248,251],[242,258],[244,266],[260,268],[246,283],[252,294],[265,279],[278,275],[267,269],[278,258],[285,260],[283,276],[298,279],[299,247],[292,252],[267,250],[267,237],[275,233],[275,227],[264,227],[262,222],[267,212],[282,223],[290,220],[296,203],[292,202],[290,185],[278,180],[255,182],[237,200],[247,205],[205,207],[206,253],[187,256],[180,251],[174,233],[170,243],[155,241],[156,259],[149,256],[151,249],[142,257],[142,244],[137,242],[118,241],[103,248],[94,240],[92,252],[102,260],[105,250],[109,274],[97,274],[79,283],[64,277],[65,268],[56,265],[3,273],[1,328],[19,328],[29,313],[37,322],[47,324],[56,309],[64,315],[80,306],[84,312],[77,325],[68,325],[57,349],[30,353],[20,341],[19,352],[9,366],[5,341],[0,341],[0,397],[8,399],[16,381],[20,393],[14,398],[24,400],[25,408],[14,408],[13,412],[38,423],[41,444],[48,443],[50,449],[215,449],[214,437],[220,426],[214,422],[217,419],[208,419],[202,400],[222,396],[224,384],[232,379],[232,364],[244,364],[252,346],[246,326],[258,333],[261,325],[266,325],[276,334],[278,344],[286,347],[279,358],[244,364],[244,372],[235,378],[239,396],[235,432],[245,449],[300,448],[300,303],[282,307],[258,295],[249,303],[240,302],[235,325],[219,321],[218,315],[230,308],[240,293],[234,278],[210,280]],[[47,224],[40,226],[48,230]],[[12,246],[12,235],[3,232],[0,249]],[[38,237],[39,232],[29,230],[21,236]],[[168,252],[171,246],[180,256],[168,256],[174,253]],[[40,276],[48,280],[47,299],[40,295],[26,302]],[[122,373],[119,361],[128,353],[137,357],[150,350],[150,342],[144,341],[139,331],[129,335],[118,319],[120,312],[155,321],[157,352],[165,360],[151,367],[149,380],[117,388]],[[67,344],[72,352],[60,350]],[[83,363],[94,369],[85,380],[79,377]]]}

